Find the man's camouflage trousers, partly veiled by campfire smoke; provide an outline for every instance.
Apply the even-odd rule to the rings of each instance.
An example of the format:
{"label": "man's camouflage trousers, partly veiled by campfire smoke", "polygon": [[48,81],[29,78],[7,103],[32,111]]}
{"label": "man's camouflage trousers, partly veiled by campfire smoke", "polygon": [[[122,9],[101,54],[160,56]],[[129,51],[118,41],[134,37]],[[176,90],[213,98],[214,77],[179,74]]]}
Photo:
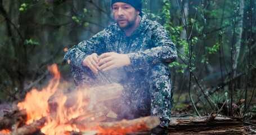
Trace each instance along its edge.
{"label": "man's camouflage trousers, partly veiled by campfire smoke", "polygon": [[120,83],[124,87],[118,100],[105,102],[105,105],[120,119],[133,119],[140,116],[156,115],[161,125],[168,126],[170,109],[173,105],[173,89],[168,66],[155,64],[150,67],[128,72],[124,68],[93,73],[90,69],[73,68],[75,83],[91,87]]}

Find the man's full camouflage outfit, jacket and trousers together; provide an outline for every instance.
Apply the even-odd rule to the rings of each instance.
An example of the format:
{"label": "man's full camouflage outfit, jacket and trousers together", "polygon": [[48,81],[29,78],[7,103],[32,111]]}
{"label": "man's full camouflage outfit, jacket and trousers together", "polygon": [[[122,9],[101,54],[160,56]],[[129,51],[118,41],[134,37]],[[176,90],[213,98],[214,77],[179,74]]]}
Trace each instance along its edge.
{"label": "man's full camouflage outfit, jacket and trousers together", "polygon": [[[128,54],[131,65],[93,73],[82,66],[87,55],[105,52]],[[117,24],[108,26],[91,39],[84,40],[66,51],[64,60],[70,60],[75,83],[100,86],[120,83],[123,95],[118,101],[105,102],[120,118],[133,119],[157,115],[161,125],[168,125],[173,104],[173,89],[168,64],[177,58],[176,47],[167,31],[145,13],[130,37]]]}

